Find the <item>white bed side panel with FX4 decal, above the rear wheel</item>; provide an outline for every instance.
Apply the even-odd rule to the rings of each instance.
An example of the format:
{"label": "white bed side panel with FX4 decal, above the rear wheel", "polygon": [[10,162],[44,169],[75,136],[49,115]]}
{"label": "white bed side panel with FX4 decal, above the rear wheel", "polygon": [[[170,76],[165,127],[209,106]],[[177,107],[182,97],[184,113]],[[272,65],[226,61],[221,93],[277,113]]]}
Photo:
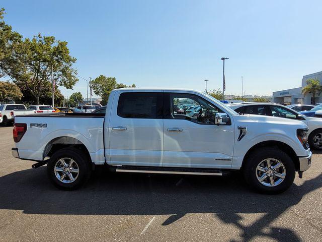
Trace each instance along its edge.
{"label": "white bed side panel with FX4 decal, above the rear wheel", "polygon": [[[16,123],[27,124],[27,131],[16,143],[20,158],[43,160],[46,145],[58,137],[72,137],[88,149],[92,161],[103,164],[104,117],[16,117]],[[30,124],[46,124],[46,128],[30,127]]]}

